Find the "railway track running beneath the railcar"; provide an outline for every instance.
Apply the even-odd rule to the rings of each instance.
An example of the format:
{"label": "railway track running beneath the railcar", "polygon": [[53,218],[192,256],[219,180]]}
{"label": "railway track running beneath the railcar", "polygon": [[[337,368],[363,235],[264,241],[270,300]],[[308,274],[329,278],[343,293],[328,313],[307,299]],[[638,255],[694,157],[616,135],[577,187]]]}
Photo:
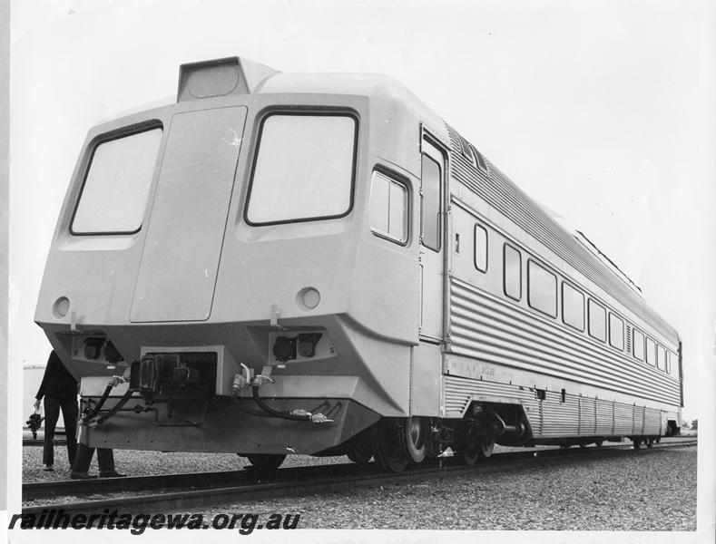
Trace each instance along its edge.
{"label": "railway track running beneath the railcar", "polygon": [[[291,494],[346,491],[365,486],[419,481],[436,476],[456,477],[467,473],[509,471],[526,463],[540,464],[558,459],[590,457],[611,459],[620,455],[648,455],[664,448],[693,447],[693,439],[655,444],[654,448],[631,452],[631,445],[568,450],[530,450],[497,453],[474,467],[446,457],[417,470],[399,474],[379,472],[375,463],[319,465],[280,469],[273,474],[254,470],[166,474],[126,477],[113,480],[52,481],[23,485],[24,514],[62,509],[65,513],[188,511],[191,508],[241,500],[264,500]],[[98,496],[102,496],[99,499]],[[65,501],[72,498],[71,501]],[[76,499],[76,500],[75,500]],[[58,501],[59,500],[59,501]]]}

